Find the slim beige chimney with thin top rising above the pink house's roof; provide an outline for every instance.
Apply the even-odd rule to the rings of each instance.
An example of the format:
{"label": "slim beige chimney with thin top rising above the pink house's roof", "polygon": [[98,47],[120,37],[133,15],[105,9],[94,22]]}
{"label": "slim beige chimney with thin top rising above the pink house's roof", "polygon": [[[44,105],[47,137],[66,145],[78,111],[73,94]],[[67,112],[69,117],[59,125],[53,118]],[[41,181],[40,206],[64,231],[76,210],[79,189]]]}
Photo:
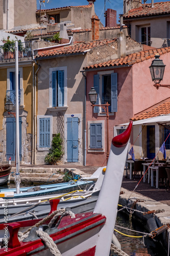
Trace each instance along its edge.
{"label": "slim beige chimney with thin top rising above the pink house's roof", "polygon": [[126,35],[123,26],[123,14],[120,14],[120,32],[117,34],[117,58],[126,56]]}

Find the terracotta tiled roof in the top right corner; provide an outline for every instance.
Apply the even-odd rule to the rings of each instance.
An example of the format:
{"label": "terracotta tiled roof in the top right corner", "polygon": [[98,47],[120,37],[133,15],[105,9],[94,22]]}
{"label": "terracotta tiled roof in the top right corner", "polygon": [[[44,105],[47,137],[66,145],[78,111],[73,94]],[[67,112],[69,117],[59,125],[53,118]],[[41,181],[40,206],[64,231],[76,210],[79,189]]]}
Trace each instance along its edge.
{"label": "terracotta tiled roof in the top right corner", "polygon": [[124,14],[124,19],[139,18],[146,16],[165,15],[170,13],[170,2],[154,3],[154,8],[151,4],[142,4],[140,8],[132,9]]}

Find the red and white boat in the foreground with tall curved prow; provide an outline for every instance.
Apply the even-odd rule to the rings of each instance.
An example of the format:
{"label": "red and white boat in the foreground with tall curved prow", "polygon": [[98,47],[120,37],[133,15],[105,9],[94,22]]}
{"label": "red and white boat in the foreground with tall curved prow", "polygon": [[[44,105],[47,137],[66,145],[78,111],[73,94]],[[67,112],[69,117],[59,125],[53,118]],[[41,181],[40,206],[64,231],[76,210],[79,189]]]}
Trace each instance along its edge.
{"label": "red and white boat in the foreground with tall curved prow", "polygon": [[132,122],[124,133],[112,140],[106,174],[93,212],[62,216],[57,226],[45,225],[42,231],[34,227],[23,241],[17,236],[20,225],[11,223],[8,225],[10,240],[7,248],[0,250],[1,255],[109,256],[131,129]]}

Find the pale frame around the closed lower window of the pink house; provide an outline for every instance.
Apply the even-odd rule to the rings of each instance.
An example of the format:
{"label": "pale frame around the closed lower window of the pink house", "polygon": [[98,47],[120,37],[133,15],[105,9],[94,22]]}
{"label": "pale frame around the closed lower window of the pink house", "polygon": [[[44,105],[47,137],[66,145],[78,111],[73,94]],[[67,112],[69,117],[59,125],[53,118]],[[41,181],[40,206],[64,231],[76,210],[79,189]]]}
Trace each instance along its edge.
{"label": "pale frame around the closed lower window of the pink house", "polygon": [[[102,124],[102,148],[91,148],[90,147],[90,124],[97,124],[101,123]],[[88,129],[88,147],[87,147],[87,152],[105,152],[105,120],[100,120],[100,121],[88,121],[87,122],[87,129]]]}

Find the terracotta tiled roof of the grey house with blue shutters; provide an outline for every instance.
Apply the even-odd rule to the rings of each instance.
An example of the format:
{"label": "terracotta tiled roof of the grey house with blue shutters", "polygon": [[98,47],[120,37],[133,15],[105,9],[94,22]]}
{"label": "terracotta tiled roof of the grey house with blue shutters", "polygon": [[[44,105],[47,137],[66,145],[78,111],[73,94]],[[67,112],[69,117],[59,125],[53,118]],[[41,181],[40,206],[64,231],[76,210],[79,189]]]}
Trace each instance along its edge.
{"label": "terracotta tiled roof of the grey house with blue shutters", "polygon": [[[112,44],[117,39],[101,39],[96,41],[86,41],[80,42],[75,45],[65,46],[58,45],[58,47],[54,46],[54,48],[47,50],[39,50],[36,58],[44,57],[44,56],[57,56],[57,55],[65,55],[65,54],[74,54],[74,53],[84,53],[86,50],[90,50],[94,47],[104,46]],[[108,62],[107,62],[108,63]]]}

